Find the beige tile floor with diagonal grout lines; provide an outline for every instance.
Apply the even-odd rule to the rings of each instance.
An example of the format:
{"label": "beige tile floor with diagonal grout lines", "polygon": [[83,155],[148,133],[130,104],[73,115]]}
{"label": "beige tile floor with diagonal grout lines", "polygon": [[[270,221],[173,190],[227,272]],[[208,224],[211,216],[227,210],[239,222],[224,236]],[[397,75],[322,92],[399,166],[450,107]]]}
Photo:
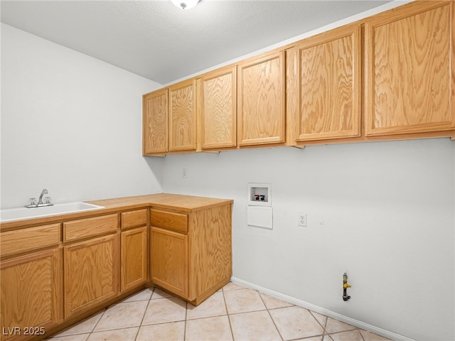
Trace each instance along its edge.
{"label": "beige tile floor with diagonal grout lines", "polygon": [[193,305],[147,288],[111,305],[52,341],[387,341],[371,332],[228,283]]}

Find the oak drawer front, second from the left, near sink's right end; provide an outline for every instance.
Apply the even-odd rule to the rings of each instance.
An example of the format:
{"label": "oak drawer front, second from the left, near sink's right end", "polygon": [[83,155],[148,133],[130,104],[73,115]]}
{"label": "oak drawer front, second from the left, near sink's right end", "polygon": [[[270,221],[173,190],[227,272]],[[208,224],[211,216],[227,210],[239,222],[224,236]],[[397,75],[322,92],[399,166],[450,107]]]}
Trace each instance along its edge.
{"label": "oak drawer front, second from the left, near sink's right end", "polygon": [[119,227],[117,215],[103,215],[101,217],[64,222],[63,242],[116,232],[117,227]]}

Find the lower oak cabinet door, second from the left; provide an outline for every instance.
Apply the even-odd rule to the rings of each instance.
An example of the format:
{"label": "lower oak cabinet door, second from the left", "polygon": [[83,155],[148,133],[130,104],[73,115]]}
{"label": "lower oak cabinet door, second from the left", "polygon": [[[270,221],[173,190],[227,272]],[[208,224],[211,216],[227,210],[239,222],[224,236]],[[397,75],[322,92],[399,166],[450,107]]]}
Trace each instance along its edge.
{"label": "lower oak cabinet door, second from the left", "polygon": [[65,318],[119,293],[119,234],[64,248]]}

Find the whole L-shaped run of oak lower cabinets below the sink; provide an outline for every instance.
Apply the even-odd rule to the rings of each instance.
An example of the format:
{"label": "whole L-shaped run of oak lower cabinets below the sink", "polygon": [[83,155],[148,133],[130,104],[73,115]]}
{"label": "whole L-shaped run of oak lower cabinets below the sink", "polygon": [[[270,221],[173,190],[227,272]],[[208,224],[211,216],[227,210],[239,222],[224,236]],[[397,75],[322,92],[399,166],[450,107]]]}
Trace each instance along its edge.
{"label": "whole L-shaped run of oak lower cabinets below the sink", "polygon": [[194,305],[228,283],[232,200],[151,198],[165,208],[1,224],[0,341],[49,337],[149,281]]}

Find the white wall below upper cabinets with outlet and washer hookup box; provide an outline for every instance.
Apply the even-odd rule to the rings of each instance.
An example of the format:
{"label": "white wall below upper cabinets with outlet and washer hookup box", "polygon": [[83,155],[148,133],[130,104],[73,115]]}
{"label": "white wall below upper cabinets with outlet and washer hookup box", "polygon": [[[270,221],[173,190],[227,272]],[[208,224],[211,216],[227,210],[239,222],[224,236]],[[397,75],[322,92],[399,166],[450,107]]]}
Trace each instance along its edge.
{"label": "white wall below upper cabinets with outlet and washer hookup box", "polygon": [[[162,185],[235,200],[235,278],[414,340],[449,341],[454,151],[428,139],[173,155]],[[249,182],[272,184],[272,230],[247,226]],[[308,227],[297,226],[299,211]]]}

